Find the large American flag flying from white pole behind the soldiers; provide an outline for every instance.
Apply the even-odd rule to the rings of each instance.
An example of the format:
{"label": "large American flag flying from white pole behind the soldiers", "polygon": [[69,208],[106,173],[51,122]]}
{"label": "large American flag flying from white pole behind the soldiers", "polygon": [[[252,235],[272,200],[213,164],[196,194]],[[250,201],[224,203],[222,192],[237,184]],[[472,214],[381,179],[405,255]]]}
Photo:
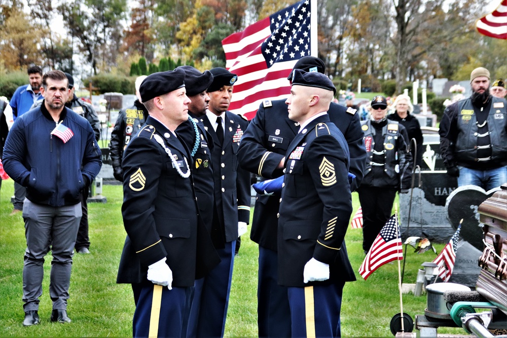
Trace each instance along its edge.
{"label": "large American flag flying from white pole behind the soldiers", "polygon": [[222,40],[237,74],[229,110],[251,120],[264,99],[291,92],[287,77],[303,56],[317,56],[317,0],[303,0]]}

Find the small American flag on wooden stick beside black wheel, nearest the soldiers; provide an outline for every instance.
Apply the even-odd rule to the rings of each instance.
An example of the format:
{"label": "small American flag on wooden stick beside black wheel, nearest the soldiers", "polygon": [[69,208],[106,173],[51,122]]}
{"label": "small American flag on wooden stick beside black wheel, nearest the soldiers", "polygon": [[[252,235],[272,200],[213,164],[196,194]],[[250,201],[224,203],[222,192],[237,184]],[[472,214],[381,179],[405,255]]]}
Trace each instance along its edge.
{"label": "small American flag on wooden stick beside black wheel, nearest the soldiers", "polygon": [[375,270],[393,260],[403,259],[402,239],[396,214],[385,223],[359,268],[366,280]]}

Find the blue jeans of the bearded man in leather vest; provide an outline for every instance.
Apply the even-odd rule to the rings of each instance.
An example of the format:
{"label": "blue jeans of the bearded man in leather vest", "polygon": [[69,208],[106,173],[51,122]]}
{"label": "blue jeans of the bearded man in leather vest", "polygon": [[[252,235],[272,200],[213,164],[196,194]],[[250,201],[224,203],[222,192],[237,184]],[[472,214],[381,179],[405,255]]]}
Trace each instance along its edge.
{"label": "blue jeans of the bearded man in leather vest", "polygon": [[507,166],[489,170],[475,170],[458,166],[458,186],[473,184],[489,191],[507,182]]}

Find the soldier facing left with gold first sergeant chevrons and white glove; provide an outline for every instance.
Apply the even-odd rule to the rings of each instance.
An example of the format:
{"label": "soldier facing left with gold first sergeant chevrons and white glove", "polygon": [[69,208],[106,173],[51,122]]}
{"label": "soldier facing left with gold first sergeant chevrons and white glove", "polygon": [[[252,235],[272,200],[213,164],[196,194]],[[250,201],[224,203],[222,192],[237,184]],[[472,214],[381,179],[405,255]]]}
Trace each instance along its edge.
{"label": "soldier facing left with gold first sergeant chevrons and white glove", "polygon": [[344,250],[350,155],[327,112],[334,93],[324,74],[293,71],[286,103],[300,130],[285,153],[278,219],[278,283],[287,286],[292,336],[340,336],[343,286],[355,280]]}

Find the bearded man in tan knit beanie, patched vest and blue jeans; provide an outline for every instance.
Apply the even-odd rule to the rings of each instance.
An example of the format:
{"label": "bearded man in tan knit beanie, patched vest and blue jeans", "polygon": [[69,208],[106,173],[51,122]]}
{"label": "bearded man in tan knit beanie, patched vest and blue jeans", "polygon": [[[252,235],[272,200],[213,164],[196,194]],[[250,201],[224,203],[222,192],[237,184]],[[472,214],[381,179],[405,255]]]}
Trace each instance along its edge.
{"label": "bearded man in tan knit beanie, patched vest and blue jeans", "polygon": [[490,73],[470,73],[472,96],[449,105],[440,122],[440,151],[458,186],[488,191],[507,182],[507,102],[491,96]]}

